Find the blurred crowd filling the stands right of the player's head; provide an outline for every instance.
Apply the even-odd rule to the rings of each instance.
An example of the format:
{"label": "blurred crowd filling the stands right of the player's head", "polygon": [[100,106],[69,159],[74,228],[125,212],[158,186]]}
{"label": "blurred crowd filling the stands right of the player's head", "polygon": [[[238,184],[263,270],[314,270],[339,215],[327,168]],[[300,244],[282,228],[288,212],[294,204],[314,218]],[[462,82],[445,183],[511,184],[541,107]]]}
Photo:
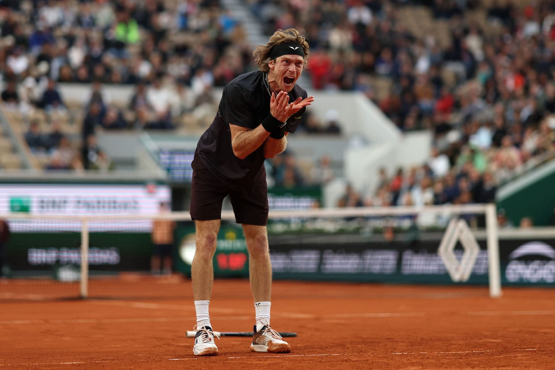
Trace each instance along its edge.
{"label": "blurred crowd filling the stands right of the player's head", "polygon": [[360,91],[401,130],[433,133],[428,163],[383,170],[342,205],[491,201],[520,165],[555,156],[555,1],[250,5],[268,30],[305,27],[314,88]]}

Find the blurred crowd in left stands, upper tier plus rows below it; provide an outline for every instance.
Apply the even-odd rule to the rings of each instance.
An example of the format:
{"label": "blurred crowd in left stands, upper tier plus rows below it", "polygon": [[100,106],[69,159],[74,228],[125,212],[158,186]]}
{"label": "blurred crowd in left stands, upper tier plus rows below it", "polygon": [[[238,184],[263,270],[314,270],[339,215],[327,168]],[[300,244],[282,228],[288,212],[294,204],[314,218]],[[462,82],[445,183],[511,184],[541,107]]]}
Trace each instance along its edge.
{"label": "blurred crowd in left stands, upper tier plus rows below it", "polygon": [[[21,116],[46,169],[113,168],[99,129],[200,129],[214,116],[212,87],[253,68],[243,28],[218,0],[4,0],[0,31],[3,107]],[[63,97],[58,82],[90,83],[90,93]],[[135,93],[117,104],[105,84]]]}

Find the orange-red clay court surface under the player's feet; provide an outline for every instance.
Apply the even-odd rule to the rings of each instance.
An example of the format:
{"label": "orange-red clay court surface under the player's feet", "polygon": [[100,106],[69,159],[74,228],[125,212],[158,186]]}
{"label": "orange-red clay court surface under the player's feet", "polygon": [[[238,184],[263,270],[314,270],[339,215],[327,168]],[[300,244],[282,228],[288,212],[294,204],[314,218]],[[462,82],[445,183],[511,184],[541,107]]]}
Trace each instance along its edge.
{"label": "orange-red clay court surface under the player's feet", "polygon": [[[118,282],[118,291],[135,282]],[[190,281],[140,282],[186,298],[17,300],[0,285],[2,368],[553,369],[555,290],[274,283],[272,325],[295,331],[290,354],[249,352],[249,338],[224,337],[218,357],[197,358],[185,332],[195,324]],[[106,286],[104,285],[104,289]],[[9,291],[12,293],[8,293]],[[91,285],[94,292],[94,283]],[[29,296],[27,296],[28,298]],[[254,322],[249,282],[216,280],[217,331]]]}

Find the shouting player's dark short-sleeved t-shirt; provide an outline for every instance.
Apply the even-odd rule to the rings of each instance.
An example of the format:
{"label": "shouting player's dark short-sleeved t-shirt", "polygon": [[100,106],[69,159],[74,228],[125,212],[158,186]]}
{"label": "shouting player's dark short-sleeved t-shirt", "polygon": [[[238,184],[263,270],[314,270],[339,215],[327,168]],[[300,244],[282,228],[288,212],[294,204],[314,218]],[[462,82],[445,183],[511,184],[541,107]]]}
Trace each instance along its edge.
{"label": "shouting player's dark short-sleeved t-shirt", "polygon": [[[263,78],[264,72],[256,71],[240,75],[225,85],[218,113],[210,127],[200,137],[196,153],[203,164],[224,184],[239,189],[249,184],[264,169],[263,145],[239,159],[231,147],[230,124],[256,128],[270,114],[270,95]],[[296,85],[289,93],[289,102],[307,97],[306,91]],[[306,108],[302,108],[287,120],[285,130],[294,133]]]}

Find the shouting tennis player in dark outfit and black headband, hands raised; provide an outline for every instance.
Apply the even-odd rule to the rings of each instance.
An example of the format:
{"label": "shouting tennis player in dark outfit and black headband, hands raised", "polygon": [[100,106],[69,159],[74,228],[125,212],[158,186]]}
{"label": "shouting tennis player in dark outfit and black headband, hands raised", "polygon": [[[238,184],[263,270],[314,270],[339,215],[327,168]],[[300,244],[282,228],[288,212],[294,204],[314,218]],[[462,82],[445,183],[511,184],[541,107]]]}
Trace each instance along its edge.
{"label": "shouting tennis player in dark outfit and black headband, hands raised", "polygon": [[220,229],[221,204],[229,194],[235,221],[243,224],[254,297],[254,352],[288,353],[291,348],[270,327],[272,271],[268,249],[268,187],[264,161],[285,150],[306,106],[314,102],[296,85],[306,68],[309,45],[296,31],[276,31],[254,50],[259,70],[224,87],[218,113],[201,136],[193,159],[190,214],[196,225],[191,266],[196,308],[195,356],[216,356],[218,347],[208,305],[214,282],[212,259]]}

